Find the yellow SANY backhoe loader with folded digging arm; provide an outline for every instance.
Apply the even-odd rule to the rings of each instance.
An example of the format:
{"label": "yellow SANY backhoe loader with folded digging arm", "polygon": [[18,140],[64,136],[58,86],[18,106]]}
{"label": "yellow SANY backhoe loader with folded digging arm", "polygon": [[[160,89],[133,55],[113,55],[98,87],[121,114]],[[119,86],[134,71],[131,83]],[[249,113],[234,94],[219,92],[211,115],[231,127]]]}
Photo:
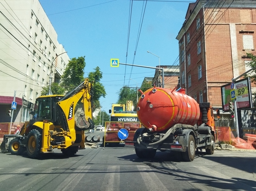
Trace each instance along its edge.
{"label": "yellow SANY backhoe loader with folded digging arm", "polygon": [[[88,78],[73,91],[63,95],[36,98],[33,119],[26,121],[20,135],[4,135],[1,150],[36,159],[54,148],[71,156],[84,149],[84,131],[93,129],[93,85]],[[31,105],[28,105],[30,108]]]}

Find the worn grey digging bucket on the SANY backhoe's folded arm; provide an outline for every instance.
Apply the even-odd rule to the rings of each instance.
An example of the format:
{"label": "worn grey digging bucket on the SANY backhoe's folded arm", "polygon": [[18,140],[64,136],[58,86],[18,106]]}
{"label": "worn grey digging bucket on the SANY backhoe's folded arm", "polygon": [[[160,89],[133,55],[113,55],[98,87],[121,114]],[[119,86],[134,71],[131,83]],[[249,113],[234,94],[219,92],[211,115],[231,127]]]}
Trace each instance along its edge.
{"label": "worn grey digging bucket on the SANY backhoe's folded arm", "polygon": [[92,129],[94,128],[94,124],[91,120],[91,118],[88,118],[88,121],[85,119],[84,111],[82,108],[79,108],[75,112],[75,126],[85,130],[85,129]]}

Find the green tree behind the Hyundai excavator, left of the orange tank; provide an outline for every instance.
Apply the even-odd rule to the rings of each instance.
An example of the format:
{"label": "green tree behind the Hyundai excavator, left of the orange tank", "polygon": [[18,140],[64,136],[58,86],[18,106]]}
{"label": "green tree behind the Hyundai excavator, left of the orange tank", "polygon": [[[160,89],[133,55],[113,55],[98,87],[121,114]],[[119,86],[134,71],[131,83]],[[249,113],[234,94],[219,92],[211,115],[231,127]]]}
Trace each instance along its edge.
{"label": "green tree behind the Hyundai excavator, left of the orange tank", "polygon": [[[118,94],[117,104],[126,104],[126,101],[131,100],[133,105],[137,105],[137,90],[128,86],[122,87]],[[138,94],[139,95],[139,94]]]}

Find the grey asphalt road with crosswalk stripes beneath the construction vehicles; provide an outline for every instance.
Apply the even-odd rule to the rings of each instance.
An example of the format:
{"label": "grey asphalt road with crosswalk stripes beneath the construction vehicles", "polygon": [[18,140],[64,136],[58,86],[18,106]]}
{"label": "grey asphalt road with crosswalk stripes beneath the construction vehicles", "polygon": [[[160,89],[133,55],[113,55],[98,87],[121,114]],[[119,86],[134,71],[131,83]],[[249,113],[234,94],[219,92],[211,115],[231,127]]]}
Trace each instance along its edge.
{"label": "grey asphalt road with crosswalk stripes beneath the construction vehicles", "polygon": [[[104,132],[90,135],[100,135]],[[101,142],[97,144],[101,145]],[[60,150],[35,160],[0,153],[1,191],[238,191],[256,190],[255,152],[200,152],[179,162],[171,152],[139,159],[132,147],[86,148],[70,158]]]}

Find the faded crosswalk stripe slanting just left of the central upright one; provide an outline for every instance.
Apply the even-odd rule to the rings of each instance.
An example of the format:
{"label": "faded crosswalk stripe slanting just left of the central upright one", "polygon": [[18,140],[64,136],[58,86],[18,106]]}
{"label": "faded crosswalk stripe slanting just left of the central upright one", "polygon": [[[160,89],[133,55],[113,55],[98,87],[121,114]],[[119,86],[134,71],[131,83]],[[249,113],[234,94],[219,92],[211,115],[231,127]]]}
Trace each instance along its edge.
{"label": "faded crosswalk stripe slanting just left of the central upright one", "polygon": [[64,181],[61,182],[61,184],[56,188],[56,191],[72,191],[90,168],[91,166],[79,166],[72,173],[70,173],[70,175],[68,175]]}

